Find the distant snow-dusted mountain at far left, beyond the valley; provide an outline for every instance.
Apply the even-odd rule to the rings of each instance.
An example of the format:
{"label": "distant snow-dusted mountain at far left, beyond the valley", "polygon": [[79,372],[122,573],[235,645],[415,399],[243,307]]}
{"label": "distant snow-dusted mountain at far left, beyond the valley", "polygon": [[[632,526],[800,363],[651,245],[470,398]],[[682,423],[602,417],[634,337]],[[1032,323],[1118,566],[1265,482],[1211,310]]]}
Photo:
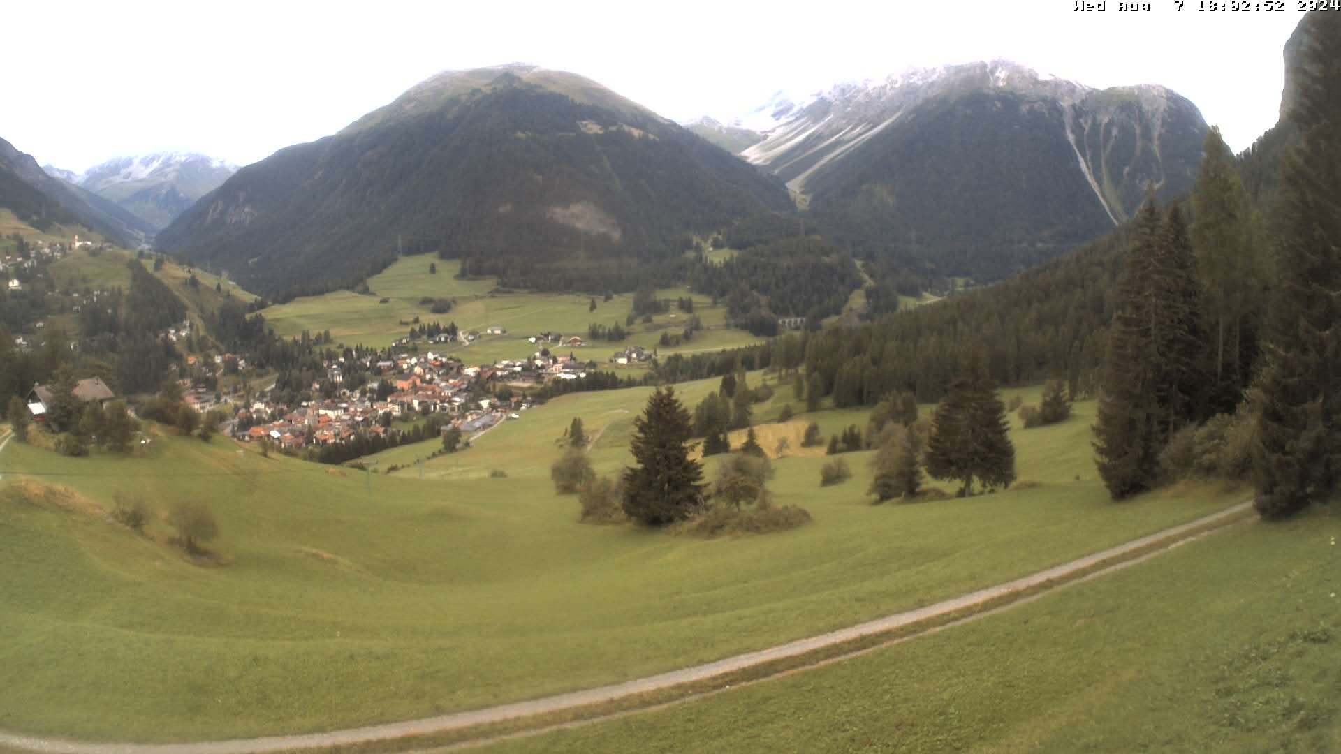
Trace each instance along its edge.
{"label": "distant snow-dusted mountain at far left, beyond the valley", "polygon": [[180,152],[117,157],[78,174],[52,165],[42,169],[115,203],[156,232],[237,172],[223,160]]}

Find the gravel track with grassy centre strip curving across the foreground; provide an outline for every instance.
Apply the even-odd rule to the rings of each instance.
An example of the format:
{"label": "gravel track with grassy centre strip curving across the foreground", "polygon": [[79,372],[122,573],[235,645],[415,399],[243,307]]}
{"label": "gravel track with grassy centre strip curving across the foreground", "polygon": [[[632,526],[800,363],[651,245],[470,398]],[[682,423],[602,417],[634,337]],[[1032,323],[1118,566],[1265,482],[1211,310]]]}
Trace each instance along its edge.
{"label": "gravel track with grassy centre strip curving across the foreground", "polygon": [[[1081,572],[1093,569],[1094,566],[1104,563],[1105,561],[1110,561],[1114,558],[1120,559],[1124,555],[1134,557],[1137,551],[1151,547],[1153,545],[1164,543],[1165,547],[1175,546],[1207,527],[1223,526],[1239,521],[1242,515],[1251,508],[1251,506],[1252,506],[1251,500],[1239,503],[1220,513],[1211,514],[1180,526],[1173,526],[1163,531],[1157,531],[1155,534],[1151,534],[1149,537],[1141,537],[1140,539],[1133,539],[1130,542],[1126,542],[1125,545],[1118,545],[1116,547],[1110,547],[1108,550],[1102,550],[1092,555],[1085,555],[1082,558],[1077,558],[1074,561],[1046,570],[1041,570],[1038,573],[1022,578],[1016,578],[1015,581],[1008,581],[1006,584],[999,584],[996,586],[988,586],[986,589],[970,592],[968,594],[953,597],[951,600],[936,602],[933,605],[927,605],[924,608],[894,613],[892,616],[876,618],[872,621],[857,624],[849,628],[842,628],[838,631],[831,631],[829,633],[821,633],[818,636],[811,636],[809,639],[789,641],[787,644],[779,644],[776,647],[770,647],[767,649],[760,649],[758,652],[736,655],[734,657],[727,657],[723,660],[717,660],[715,663],[705,663],[691,668],[683,668],[679,671],[670,671],[660,675],[629,680],[625,683],[601,686],[597,688],[573,691],[567,694],[557,694],[554,696],[544,696],[528,702],[499,704],[496,707],[485,707],[483,710],[471,710],[465,712],[453,712],[449,715],[439,715],[436,718],[425,718],[420,720],[406,720],[400,723],[385,723],[385,724],[365,726],[357,729],[337,730],[330,733],[314,733],[302,735],[276,735],[267,738],[211,741],[200,743],[139,745],[139,743],[74,742],[74,741],[43,739],[43,738],[0,733],[0,746],[8,746],[12,749],[19,749],[25,751],[50,751],[62,754],[267,754],[272,751],[284,751],[287,749],[319,749],[325,746],[354,745],[354,743],[366,743],[370,741],[404,738],[410,735],[426,735],[426,734],[445,733],[460,729],[469,729],[480,724],[498,723],[516,718],[527,718],[532,715],[559,712],[575,707],[585,707],[589,704],[598,704],[602,702],[610,702],[625,696],[645,694],[649,691],[661,691],[685,683],[700,682],[723,674],[748,669],[751,667],[771,663],[775,660],[797,657],[801,655],[814,652],[817,649],[829,648],[837,644],[843,644],[848,641],[869,636],[878,636],[894,629],[928,621],[931,618],[953,614],[956,612],[960,612],[966,608],[972,608],[975,605],[982,605],[992,601],[999,601],[1002,598],[1008,598],[1012,593],[1021,593],[1033,588],[1038,588],[1041,585],[1047,585],[1051,581],[1074,578]],[[1147,554],[1145,557],[1151,554]],[[1145,559],[1145,557],[1141,557],[1139,559]],[[1047,586],[1046,590],[1057,589],[1063,585],[1065,584]],[[1025,598],[1026,596],[1023,594],[1018,596],[1019,601],[1023,601]],[[928,628],[927,631],[928,632],[935,631],[935,628]]]}

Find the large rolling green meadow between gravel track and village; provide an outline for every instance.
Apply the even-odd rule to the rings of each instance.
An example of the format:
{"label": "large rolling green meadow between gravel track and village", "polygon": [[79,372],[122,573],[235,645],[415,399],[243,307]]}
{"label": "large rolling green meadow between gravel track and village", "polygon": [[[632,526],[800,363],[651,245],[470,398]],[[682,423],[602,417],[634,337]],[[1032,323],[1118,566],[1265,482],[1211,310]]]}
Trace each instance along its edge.
{"label": "large rolling green meadow between gravel track and village", "polygon": [[[715,386],[679,392],[692,402]],[[0,730],[164,742],[534,698],[933,602],[1242,499],[1184,487],[1109,502],[1088,460],[1093,407],[1080,404],[1067,423],[1015,432],[1021,476],[1043,483],[1022,492],[873,507],[870,452],[848,455],[854,478],[826,488],[826,459],[794,455],[771,487],[813,514],[798,530],[699,539],[575,523],[577,500],[548,480],[554,440],[582,416],[601,432],[593,462],[614,472],[646,394],[557,398],[426,463],[422,479],[261,457],[223,437],[160,436],[131,459],[11,443],[0,486],[75,496],[0,491]],[[798,423],[810,419],[826,433],[865,421]],[[146,537],[107,521],[117,492],[156,511]],[[194,565],[168,542],[158,517],[181,499],[211,506],[227,565]]]}

